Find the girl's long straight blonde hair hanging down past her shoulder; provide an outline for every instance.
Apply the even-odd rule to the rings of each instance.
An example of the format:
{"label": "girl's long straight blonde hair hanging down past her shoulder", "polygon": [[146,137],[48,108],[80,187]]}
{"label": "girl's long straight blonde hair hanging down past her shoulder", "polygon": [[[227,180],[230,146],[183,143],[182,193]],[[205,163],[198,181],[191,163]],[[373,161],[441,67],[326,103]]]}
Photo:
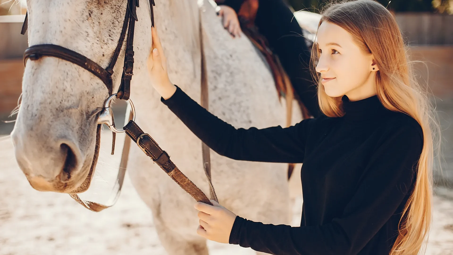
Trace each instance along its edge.
{"label": "girl's long straight blonde hair hanging down past her shoulder", "polygon": [[[432,221],[434,138],[439,132],[437,118],[431,110],[427,93],[414,77],[408,48],[390,11],[374,0],[342,0],[331,3],[321,14],[319,25],[328,21],[342,27],[361,49],[373,54],[379,67],[376,72],[377,96],[384,107],[408,114],[423,129],[424,144],[417,165],[415,186],[405,205],[399,234],[390,251],[390,255],[416,255],[428,238]],[[344,115],[341,98],[329,97],[320,83],[320,74],[314,71],[318,59],[317,45],[314,44],[311,61],[318,83],[319,106],[325,115],[341,117]]]}

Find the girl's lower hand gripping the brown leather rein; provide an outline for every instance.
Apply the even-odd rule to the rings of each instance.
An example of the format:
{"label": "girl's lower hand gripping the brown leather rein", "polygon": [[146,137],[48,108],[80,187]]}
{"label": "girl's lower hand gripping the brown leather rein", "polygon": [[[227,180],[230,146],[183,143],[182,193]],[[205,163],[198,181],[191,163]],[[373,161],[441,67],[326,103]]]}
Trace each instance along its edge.
{"label": "girl's lower hand gripping the brown leather rein", "polygon": [[197,202],[194,206],[199,211],[198,218],[200,218],[197,234],[206,239],[227,244],[236,214],[214,200],[211,202],[214,206],[202,202]]}

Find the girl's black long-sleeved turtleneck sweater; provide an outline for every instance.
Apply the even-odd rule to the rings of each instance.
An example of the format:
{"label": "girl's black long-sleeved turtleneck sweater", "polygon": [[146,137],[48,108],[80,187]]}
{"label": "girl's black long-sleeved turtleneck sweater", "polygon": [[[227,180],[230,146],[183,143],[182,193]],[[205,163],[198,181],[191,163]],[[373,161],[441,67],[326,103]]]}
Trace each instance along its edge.
{"label": "girl's black long-sleeved turtleneck sweater", "polygon": [[304,163],[300,227],[237,216],[230,244],[278,255],[389,254],[423,147],[422,129],[413,118],[387,110],[377,96],[355,102],[344,96],[341,118],[236,129],[180,88],[162,101],[220,155]]}

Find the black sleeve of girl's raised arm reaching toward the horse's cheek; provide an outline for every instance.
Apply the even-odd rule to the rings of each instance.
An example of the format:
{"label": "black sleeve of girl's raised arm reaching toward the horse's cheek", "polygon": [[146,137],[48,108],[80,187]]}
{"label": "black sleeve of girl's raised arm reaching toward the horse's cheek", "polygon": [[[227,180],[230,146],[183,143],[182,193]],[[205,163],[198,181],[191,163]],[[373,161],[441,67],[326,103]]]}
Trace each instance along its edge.
{"label": "black sleeve of girl's raised arm reaching toward the horse's cheek", "polygon": [[236,160],[301,163],[308,126],[306,119],[292,127],[238,128],[222,121],[193,101],[180,88],[167,100],[169,109],[218,154]]}

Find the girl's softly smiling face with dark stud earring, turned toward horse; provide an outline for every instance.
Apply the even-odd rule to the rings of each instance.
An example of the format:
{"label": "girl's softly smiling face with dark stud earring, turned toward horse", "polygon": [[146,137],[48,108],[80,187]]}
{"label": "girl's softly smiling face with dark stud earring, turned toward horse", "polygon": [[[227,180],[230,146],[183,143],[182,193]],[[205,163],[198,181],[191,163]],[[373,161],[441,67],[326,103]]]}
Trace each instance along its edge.
{"label": "girl's softly smiling face with dark stud earring, turned toward horse", "polygon": [[[342,27],[324,21],[318,28],[319,61],[316,71],[330,97],[347,95],[357,101],[376,95],[376,71],[372,54],[360,49]],[[373,70],[374,68],[374,70]]]}

